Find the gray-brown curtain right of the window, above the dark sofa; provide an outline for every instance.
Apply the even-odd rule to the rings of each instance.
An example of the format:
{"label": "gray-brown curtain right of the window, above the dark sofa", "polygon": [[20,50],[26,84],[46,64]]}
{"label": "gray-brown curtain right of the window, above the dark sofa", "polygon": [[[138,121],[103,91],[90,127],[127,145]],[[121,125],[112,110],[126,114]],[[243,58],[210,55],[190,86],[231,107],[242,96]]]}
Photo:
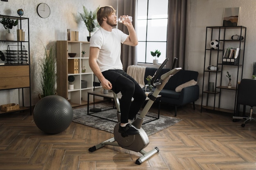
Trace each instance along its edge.
{"label": "gray-brown curtain right of the window, above the dark sofa", "polygon": [[167,68],[171,68],[174,57],[178,58],[177,67],[184,68],[185,65],[186,5],[187,0],[168,2]]}

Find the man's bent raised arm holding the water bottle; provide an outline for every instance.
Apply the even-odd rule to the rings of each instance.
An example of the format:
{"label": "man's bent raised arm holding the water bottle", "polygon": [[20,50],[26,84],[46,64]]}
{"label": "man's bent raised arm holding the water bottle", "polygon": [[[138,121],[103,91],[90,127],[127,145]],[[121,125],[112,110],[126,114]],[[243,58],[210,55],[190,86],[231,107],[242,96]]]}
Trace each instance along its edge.
{"label": "man's bent raised arm holding the water bottle", "polygon": [[[123,15],[123,17],[126,17],[126,16]],[[127,15],[127,17],[128,17],[128,15]],[[127,27],[128,32],[129,32],[129,36],[124,41],[124,44],[130,45],[130,46],[137,46],[138,38],[137,38],[137,34],[135,32],[135,29],[132,25],[132,22],[127,19],[127,20],[123,21],[123,24]]]}

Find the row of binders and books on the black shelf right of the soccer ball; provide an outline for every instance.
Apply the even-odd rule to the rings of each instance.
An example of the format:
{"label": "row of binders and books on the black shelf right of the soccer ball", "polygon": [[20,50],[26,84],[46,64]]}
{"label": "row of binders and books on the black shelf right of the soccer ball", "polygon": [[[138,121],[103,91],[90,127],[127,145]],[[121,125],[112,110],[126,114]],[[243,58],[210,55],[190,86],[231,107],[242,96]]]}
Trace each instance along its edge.
{"label": "row of binders and books on the black shelf right of the soccer ball", "polygon": [[227,48],[225,49],[225,52],[222,57],[222,63],[223,64],[230,64],[230,65],[238,65],[238,57],[239,57],[239,51],[240,49],[232,49]]}

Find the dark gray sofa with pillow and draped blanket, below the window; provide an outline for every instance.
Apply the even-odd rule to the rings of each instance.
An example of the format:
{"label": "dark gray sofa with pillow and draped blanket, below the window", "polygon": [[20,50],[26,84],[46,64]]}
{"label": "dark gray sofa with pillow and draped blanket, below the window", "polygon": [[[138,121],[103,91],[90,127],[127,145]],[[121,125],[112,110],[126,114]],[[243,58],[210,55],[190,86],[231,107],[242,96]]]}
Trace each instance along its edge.
{"label": "dark gray sofa with pillow and draped blanket, below the window", "polygon": [[[146,77],[148,75],[153,76],[157,68],[146,67],[145,71],[145,79],[144,82],[147,84]],[[166,72],[170,71],[170,69],[164,68],[159,74],[160,76]],[[197,71],[188,71],[188,70],[180,70],[178,73],[173,75],[164,86],[163,90],[159,93],[162,95],[161,102],[166,104],[171,104],[175,106],[175,116],[177,116],[177,106],[181,106],[188,103],[193,103],[193,109],[195,110],[195,101],[199,98],[199,86],[196,84],[194,86],[185,87],[181,92],[175,92],[175,88],[181,84],[189,82],[191,79],[197,81],[198,72]]]}

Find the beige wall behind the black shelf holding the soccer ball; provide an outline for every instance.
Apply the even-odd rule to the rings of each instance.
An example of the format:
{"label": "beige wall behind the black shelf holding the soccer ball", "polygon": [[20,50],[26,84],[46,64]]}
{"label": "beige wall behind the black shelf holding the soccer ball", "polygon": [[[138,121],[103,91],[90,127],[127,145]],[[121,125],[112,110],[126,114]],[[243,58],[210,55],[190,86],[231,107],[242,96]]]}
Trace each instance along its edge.
{"label": "beige wall behind the black shelf holding the soccer ball", "polygon": [[[247,27],[243,78],[252,77],[252,64],[256,62],[256,0],[188,0],[185,69],[199,72],[200,93],[202,93],[206,27],[222,26],[224,8],[229,7],[240,7],[238,25]],[[231,72],[232,75],[236,74]],[[228,79],[226,81],[228,83]],[[234,79],[231,82],[235,84]],[[225,91],[223,95],[226,97],[222,101],[226,102],[222,102],[221,107],[234,109],[234,91],[232,93]],[[196,104],[201,104],[201,96]]]}

